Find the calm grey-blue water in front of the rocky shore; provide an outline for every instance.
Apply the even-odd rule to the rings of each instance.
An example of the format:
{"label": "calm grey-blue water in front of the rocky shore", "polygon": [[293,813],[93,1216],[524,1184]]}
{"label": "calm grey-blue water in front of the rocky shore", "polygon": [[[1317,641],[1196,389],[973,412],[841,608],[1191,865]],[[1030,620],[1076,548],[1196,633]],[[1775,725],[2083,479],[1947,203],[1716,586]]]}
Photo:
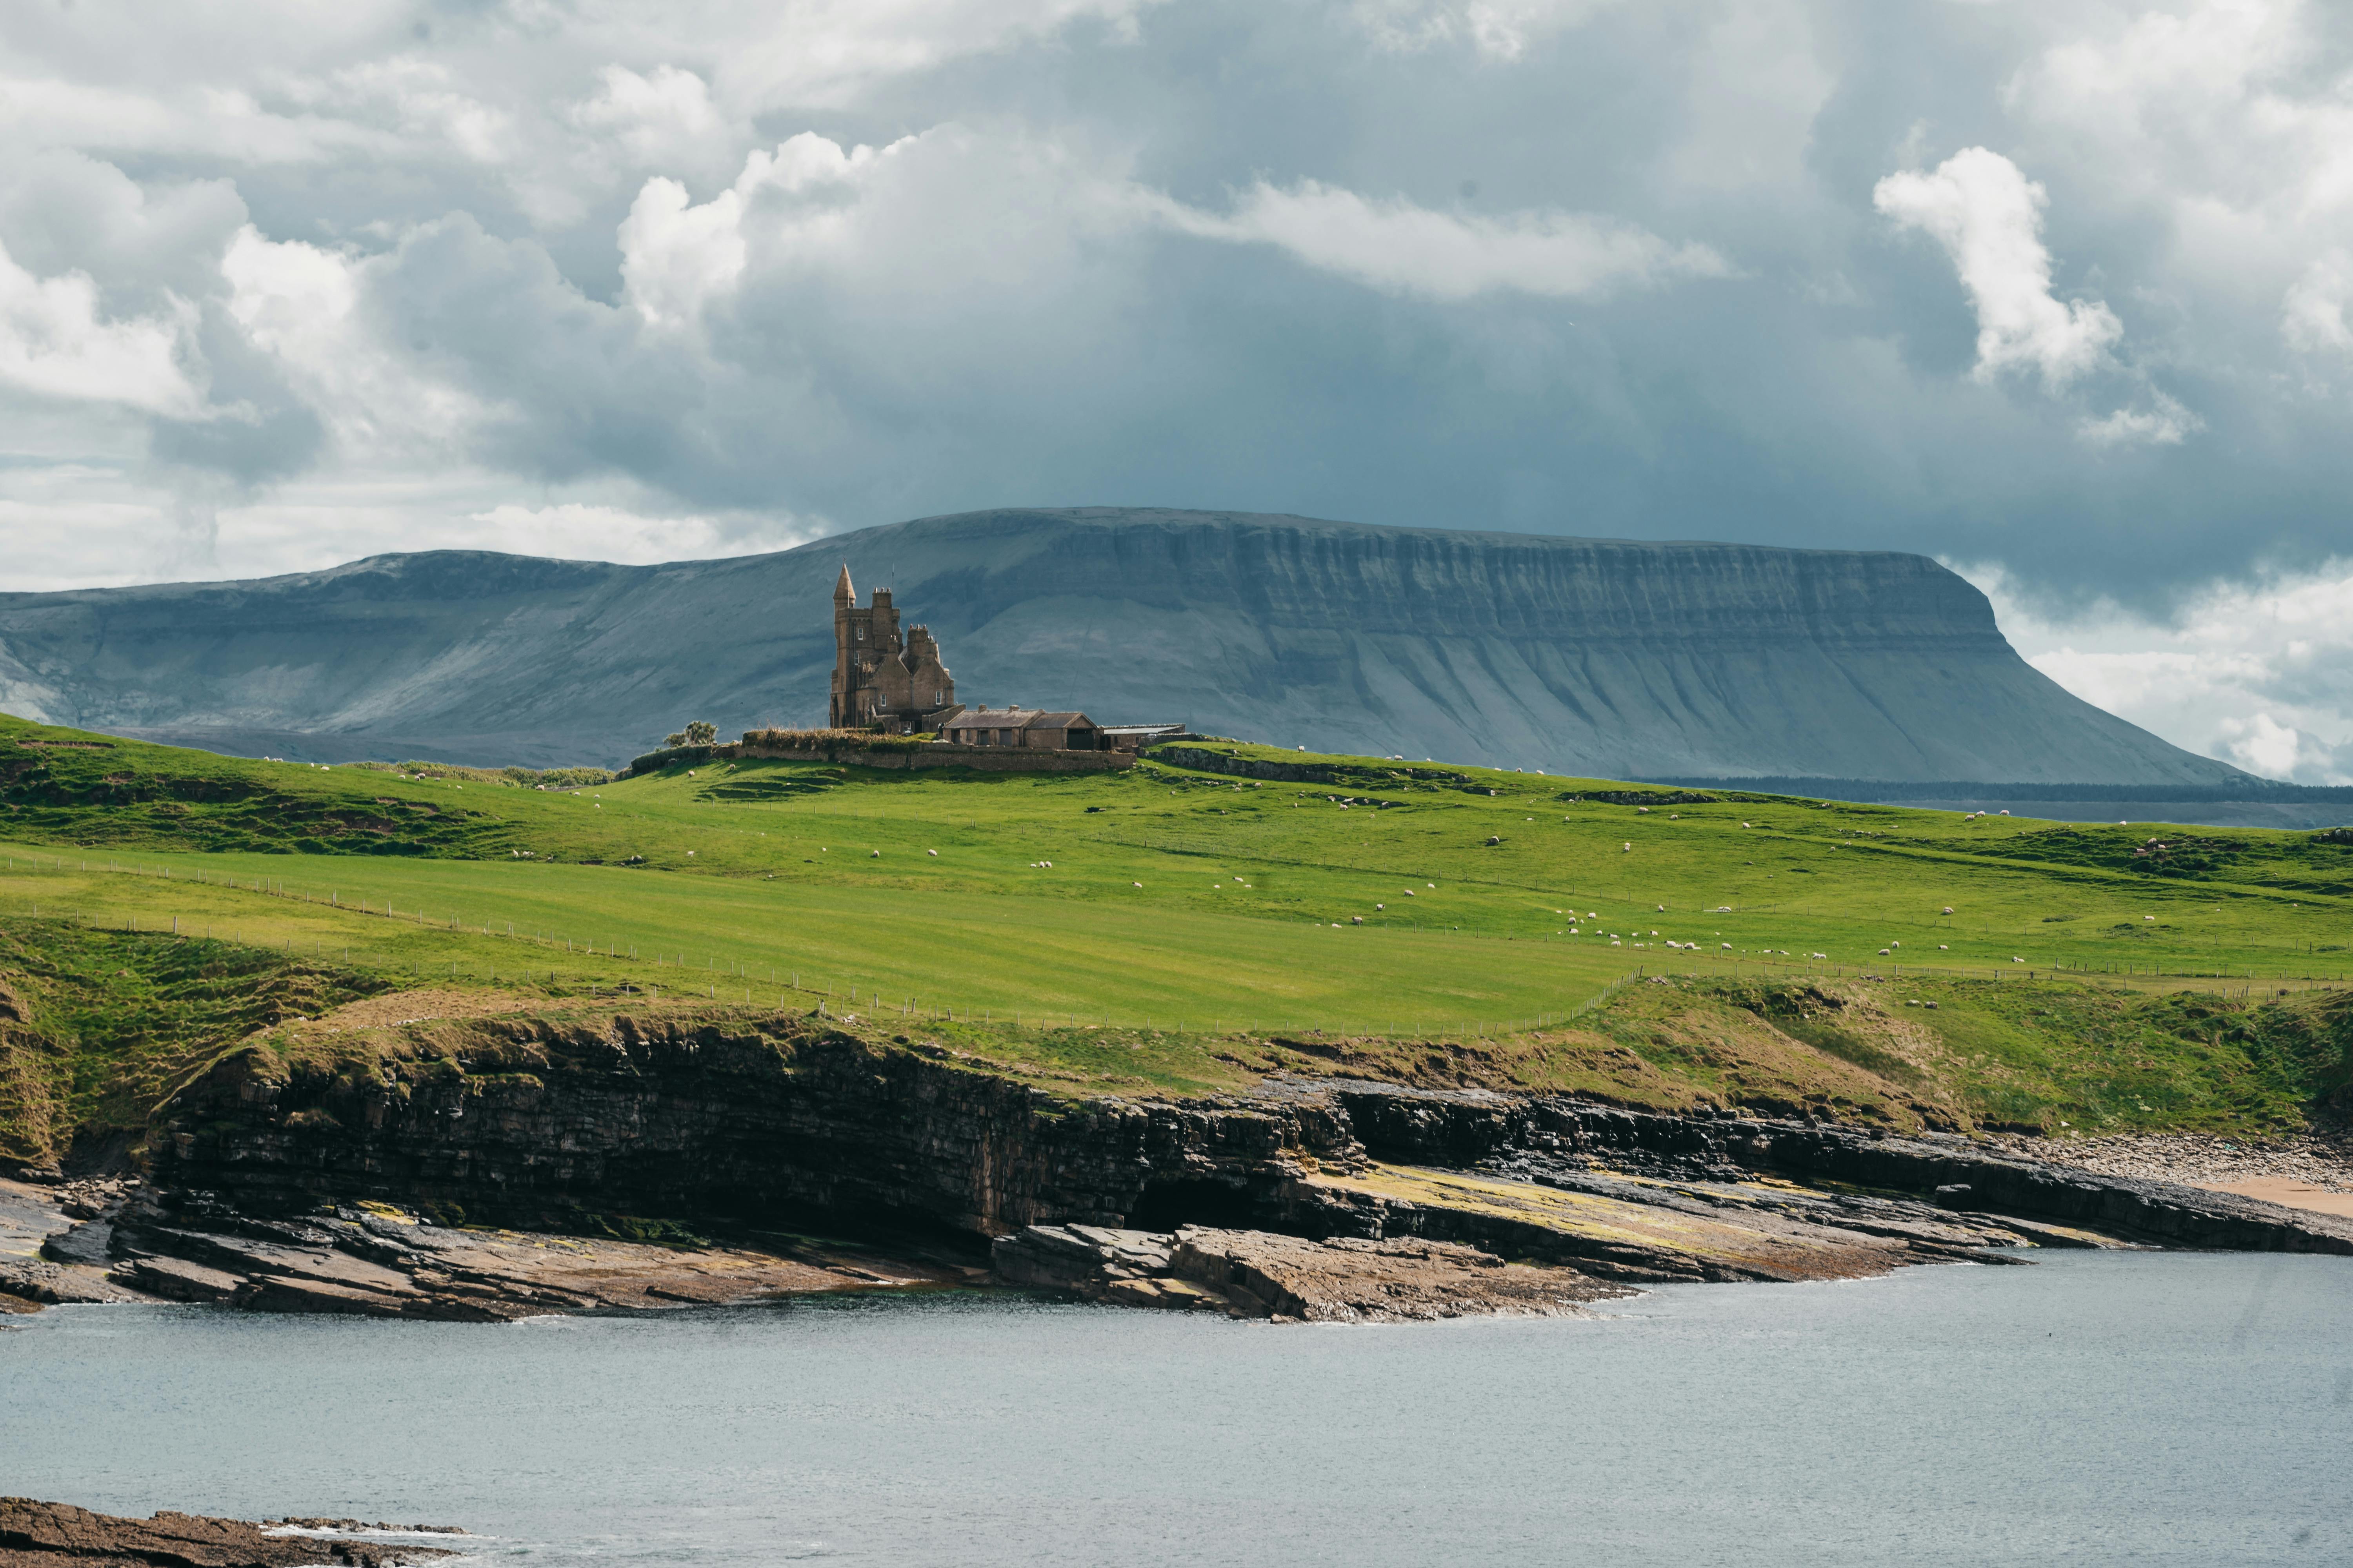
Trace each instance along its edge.
{"label": "calm grey-blue water in front of the rocky shore", "polygon": [[447,1521],[494,1563],[2353,1561],[2344,1258],[1398,1328],[1000,1298],[12,1324],[0,1493]]}

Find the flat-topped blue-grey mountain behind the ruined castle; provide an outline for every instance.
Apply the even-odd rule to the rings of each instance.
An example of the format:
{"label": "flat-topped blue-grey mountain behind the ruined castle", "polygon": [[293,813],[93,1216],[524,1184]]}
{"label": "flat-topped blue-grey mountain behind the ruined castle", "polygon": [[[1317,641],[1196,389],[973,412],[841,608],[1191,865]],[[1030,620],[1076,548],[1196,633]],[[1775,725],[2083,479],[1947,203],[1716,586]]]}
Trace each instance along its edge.
{"label": "flat-topped blue-grey mountain behind the ruined castle", "polygon": [[0,708],[311,759],[619,762],[689,717],[824,722],[842,562],[929,623],[965,703],[1614,778],[2238,778],[2061,691],[1918,555],[1136,508],[0,595]]}

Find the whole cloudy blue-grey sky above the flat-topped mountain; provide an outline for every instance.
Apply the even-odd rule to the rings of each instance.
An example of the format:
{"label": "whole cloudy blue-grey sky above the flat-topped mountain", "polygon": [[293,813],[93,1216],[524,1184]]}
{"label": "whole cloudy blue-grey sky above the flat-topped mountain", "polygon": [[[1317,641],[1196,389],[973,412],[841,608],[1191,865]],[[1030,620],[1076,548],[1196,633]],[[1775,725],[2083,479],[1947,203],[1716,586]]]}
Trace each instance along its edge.
{"label": "whole cloudy blue-grey sky above the flat-topped mountain", "polygon": [[2348,435],[2325,0],[0,7],[0,590],[988,505],[1885,548],[2346,783]]}

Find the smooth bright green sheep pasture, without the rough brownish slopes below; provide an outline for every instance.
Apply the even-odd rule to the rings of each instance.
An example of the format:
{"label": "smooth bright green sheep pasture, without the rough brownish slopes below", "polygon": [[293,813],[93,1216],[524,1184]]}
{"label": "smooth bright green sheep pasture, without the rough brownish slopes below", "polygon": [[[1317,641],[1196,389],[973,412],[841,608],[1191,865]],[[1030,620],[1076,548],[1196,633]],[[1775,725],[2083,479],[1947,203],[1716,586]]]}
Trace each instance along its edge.
{"label": "smooth bright green sheep pasture, without the rough brownish slopes below", "polygon": [[1186,1027],[1497,1027],[1635,971],[2353,973],[2327,835],[1212,750],[1325,778],[715,762],[539,790],[0,719],[0,907]]}

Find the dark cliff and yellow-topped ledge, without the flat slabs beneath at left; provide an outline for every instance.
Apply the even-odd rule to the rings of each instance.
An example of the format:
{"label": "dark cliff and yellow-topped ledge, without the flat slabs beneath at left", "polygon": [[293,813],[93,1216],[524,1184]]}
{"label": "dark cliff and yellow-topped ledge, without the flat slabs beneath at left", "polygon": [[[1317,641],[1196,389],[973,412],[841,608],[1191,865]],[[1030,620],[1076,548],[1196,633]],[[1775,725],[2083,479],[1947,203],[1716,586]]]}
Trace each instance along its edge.
{"label": "dark cliff and yellow-topped ledge, without the flat slabs beneath at left", "polygon": [[[572,1229],[621,1213],[899,1237],[972,1258],[1024,1227],[1247,1227],[1445,1241],[1619,1281],[1849,1279],[2113,1237],[2353,1253],[2353,1222],[1962,1138],[1367,1081],[1073,1103],[809,1013],[452,1020],[292,1063],[254,1046],[167,1117],[155,1178],[191,1218],[118,1246],[188,1255],[172,1234],[221,1204],[391,1201]],[[219,1267],[216,1246],[200,1251]]]}

